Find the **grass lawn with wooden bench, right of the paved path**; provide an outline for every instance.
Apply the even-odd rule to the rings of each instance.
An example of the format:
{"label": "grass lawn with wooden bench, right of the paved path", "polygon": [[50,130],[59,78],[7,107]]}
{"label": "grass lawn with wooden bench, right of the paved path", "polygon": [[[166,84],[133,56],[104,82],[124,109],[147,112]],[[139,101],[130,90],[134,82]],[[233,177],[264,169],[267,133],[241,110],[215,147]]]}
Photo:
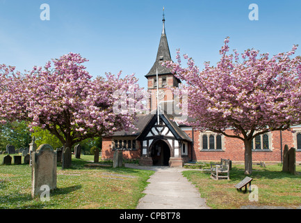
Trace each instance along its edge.
{"label": "grass lawn with wooden bench, right of the paved path", "polygon": [[234,187],[245,178],[243,165],[233,165],[230,180],[213,180],[210,178],[210,171],[184,171],[184,176],[195,184],[211,208],[232,209],[241,206],[300,208],[301,166],[298,165],[296,170],[298,173],[294,176],[283,173],[282,166],[277,164],[267,165],[266,168],[254,165],[250,177],[253,178],[252,185],[258,188],[258,201],[249,201],[249,192],[238,192]]}

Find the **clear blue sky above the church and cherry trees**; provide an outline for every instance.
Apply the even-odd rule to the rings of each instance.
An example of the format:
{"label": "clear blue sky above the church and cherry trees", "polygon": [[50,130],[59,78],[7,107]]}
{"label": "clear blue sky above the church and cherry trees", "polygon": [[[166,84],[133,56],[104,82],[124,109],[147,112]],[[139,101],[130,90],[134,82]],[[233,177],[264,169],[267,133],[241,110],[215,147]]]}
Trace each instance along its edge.
{"label": "clear blue sky above the church and cherry trees", "polygon": [[[40,20],[48,3],[50,20]],[[249,5],[259,20],[249,20]],[[253,0],[0,0],[0,63],[30,70],[69,52],[89,59],[91,75],[136,73],[140,86],[161,37],[162,9],[172,59],[176,49],[202,67],[215,64],[225,37],[231,49],[277,54],[301,47],[301,1]],[[298,49],[297,55],[300,55]]]}

